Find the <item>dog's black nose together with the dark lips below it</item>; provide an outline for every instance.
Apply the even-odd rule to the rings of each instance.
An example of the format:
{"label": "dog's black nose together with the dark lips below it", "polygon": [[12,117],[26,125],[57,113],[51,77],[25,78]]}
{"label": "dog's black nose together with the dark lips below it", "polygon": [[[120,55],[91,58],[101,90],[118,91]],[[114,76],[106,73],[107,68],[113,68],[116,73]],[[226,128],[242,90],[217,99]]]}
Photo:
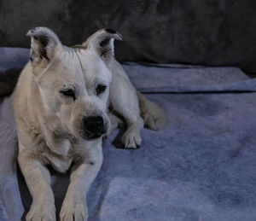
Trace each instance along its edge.
{"label": "dog's black nose together with the dark lips below it", "polygon": [[90,116],[84,118],[84,138],[95,140],[107,133],[107,126],[102,116]]}

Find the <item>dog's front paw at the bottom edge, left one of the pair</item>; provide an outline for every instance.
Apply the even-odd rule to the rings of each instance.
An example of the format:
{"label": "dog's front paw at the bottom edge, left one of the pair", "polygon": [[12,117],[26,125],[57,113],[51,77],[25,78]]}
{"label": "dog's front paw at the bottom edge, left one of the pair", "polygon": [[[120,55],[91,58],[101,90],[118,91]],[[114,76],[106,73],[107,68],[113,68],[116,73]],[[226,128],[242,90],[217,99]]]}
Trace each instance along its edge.
{"label": "dog's front paw at the bottom edge, left one of the pair", "polygon": [[46,201],[33,203],[30,211],[26,214],[26,221],[55,221],[55,205]]}

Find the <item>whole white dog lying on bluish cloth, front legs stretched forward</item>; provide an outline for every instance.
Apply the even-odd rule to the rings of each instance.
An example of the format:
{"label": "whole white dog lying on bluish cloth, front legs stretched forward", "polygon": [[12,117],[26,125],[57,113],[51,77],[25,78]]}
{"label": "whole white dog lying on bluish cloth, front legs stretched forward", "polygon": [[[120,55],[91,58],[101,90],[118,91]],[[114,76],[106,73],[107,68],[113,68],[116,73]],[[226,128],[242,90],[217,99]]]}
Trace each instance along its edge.
{"label": "whole white dog lying on bluish cloth, front legs stretched forward", "polygon": [[30,61],[13,94],[18,163],[32,195],[26,220],[56,219],[47,166],[57,172],[71,167],[61,221],[87,220],[86,194],[102,166],[102,137],[119,123],[113,113],[125,119],[125,148],[141,144],[144,125],[153,130],[165,125],[165,113],[137,92],[115,60],[119,32],[102,29],[73,47],[62,45],[46,27],[27,36]]}

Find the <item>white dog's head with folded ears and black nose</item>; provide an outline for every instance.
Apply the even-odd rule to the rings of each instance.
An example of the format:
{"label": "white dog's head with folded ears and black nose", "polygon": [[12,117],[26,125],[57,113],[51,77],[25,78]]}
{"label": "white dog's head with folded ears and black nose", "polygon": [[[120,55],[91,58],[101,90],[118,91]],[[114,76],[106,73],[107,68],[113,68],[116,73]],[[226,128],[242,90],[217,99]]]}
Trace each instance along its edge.
{"label": "white dog's head with folded ears and black nose", "polygon": [[80,46],[63,46],[54,32],[37,27],[31,37],[30,63],[50,128],[92,140],[108,132],[107,109],[113,40],[118,32],[102,29]]}

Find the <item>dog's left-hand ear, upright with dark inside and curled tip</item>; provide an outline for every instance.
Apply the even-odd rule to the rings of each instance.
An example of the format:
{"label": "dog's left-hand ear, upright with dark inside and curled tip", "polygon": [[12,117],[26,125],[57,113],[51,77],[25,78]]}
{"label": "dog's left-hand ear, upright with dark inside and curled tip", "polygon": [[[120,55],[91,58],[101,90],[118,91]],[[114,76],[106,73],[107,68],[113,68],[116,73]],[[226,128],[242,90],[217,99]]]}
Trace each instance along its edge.
{"label": "dog's left-hand ear, upright with dark inside and curled tip", "polygon": [[27,32],[31,37],[30,61],[32,67],[38,64],[48,64],[55,55],[56,49],[60,49],[61,41],[47,27],[36,27]]}

